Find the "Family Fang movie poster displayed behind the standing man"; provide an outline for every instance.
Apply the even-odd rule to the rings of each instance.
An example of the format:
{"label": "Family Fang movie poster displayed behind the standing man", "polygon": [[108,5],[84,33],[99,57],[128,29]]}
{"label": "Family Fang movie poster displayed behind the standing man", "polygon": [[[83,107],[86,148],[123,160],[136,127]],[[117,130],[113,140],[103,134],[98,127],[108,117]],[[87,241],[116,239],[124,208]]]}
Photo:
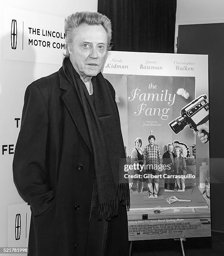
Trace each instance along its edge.
{"label": "Family Fang movie poster displayed behind the standing man", "polygon": [[[192,55],[158,54],[158,59],[163,59],[160,65],[156,54],[140,55],[132,61],[136,53],[120,53],[119,59],[117,53],[110,53],[104,77],[115,89],[121,119],[128,166],[124,174],[131,198],[129,239],[192,237],[201,236],[201,232],[210,236],[210,225],[204,228],[195,218],[201,211],[201,217],[210,220],[205,193],[209,186],[208,146],[206,154],[202,153],[205,149],[200,149],[199,142],[196,145],[188,120],[182,121],[181,116],[181,110],[187,115],[193,112],[194,124],[208,121],[208,82],[203,88],[197,84],[203,74],[206,76],[207,66],[202,67],[204,73],[196,72],[196,61],[176,60]],[[199,60],[204,57],[193,56]],[[179,120],[181,125],[177,125]],[[200,162],[206,169],[203,177],[199,175]]]}

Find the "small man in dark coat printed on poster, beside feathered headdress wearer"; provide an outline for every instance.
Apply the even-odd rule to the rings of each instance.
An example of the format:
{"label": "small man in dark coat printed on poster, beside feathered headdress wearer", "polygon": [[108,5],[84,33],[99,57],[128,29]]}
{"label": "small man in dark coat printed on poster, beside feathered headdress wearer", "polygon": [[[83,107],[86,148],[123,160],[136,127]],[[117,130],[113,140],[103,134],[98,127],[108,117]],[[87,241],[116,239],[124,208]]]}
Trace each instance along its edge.
{"label": "small man in dark coat printed on poster, beside feathered headdress wearer", "polygon": [[[173,144],[169,143],[167,145],[167,151],[163,154],[163,164],[165,164],[165,174],[174,174],[174,158],[173,154]],[[175,178],[165,178],[165,191],[174,191],[175,188]]]}

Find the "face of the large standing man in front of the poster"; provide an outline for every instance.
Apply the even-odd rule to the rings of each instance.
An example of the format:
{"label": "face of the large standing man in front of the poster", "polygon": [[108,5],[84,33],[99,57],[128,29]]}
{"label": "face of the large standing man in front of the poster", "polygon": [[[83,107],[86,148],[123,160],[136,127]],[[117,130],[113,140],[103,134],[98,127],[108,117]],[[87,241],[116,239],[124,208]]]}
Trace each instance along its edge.
{"label": "face of the large standing man in front of the poster", "polygon": [[102,25],[81,24],[74,31],[70,60],[82,77],[95,77],[107,58],[107,32]]}

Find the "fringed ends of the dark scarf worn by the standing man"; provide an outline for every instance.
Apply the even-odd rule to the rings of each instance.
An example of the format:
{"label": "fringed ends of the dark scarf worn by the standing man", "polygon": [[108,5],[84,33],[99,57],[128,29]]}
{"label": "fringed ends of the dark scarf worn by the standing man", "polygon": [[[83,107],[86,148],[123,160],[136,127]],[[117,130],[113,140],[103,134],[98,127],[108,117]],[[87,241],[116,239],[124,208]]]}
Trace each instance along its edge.
{"label": "fringed ends of the dark scarf worn by the standing man", "polygon": [[116,185],[117,199],[110,200],[109,202],[103,202],[99,204],[98,220],[102,220],[104,217],[106,220],[111,220],[112,217],[118,214],[118,206],[130,205],[130,191],[129,184],[120,183]]}

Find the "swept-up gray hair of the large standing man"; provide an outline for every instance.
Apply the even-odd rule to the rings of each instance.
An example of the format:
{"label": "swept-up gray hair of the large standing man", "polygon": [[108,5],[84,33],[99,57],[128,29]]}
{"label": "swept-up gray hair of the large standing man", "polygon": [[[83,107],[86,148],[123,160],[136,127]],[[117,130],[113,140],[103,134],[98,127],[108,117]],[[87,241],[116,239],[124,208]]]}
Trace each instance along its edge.
{"label": "swept-up gray hair of the large standing man", "polygon": [[[73,44],[74,39],[74,30],[78,28],[81,24],[87,25],[102,25],[107,32],[107,50],[111,49],[111,22],[107,16],[96,13],[96,12],[76,12],[69,15],[65,18],[64,32],[65,32],[65,41],[67,47],[71,50],[71,45]],[[68,49],[66,49],[66,55],[68,54]]]}

